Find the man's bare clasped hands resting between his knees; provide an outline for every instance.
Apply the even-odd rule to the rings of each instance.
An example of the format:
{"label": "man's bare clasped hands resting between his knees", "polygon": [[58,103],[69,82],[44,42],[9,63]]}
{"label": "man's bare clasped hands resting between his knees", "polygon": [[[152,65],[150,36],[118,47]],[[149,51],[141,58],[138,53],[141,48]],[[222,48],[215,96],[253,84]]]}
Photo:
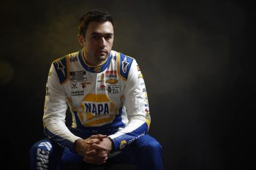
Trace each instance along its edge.
{"label": "man's bare clasped hands resting between his knees", "polygon": [[111,149],[111,140],[102,134],[92,135],[87,139],[78,139],[74,144],[75,152],[82,155],[86,163],[105,163]]}

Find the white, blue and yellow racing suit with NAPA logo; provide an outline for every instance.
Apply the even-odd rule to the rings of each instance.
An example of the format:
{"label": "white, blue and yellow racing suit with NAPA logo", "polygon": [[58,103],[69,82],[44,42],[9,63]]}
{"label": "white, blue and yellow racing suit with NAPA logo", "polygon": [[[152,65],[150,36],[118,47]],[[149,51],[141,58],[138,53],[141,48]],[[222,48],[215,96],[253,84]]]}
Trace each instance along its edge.
{"label": "white, blue and yellow racing suit with NAPA logo", "polygon": [[[71,128],[65,124],[67,107],[72,113]],[[150,123],[146,86],[134,58],[111,50],[103,63],[90,66],[84,60],[82,50],[65,55],[50,66],[43,116],[48,139],[31,148],[31,169],[59,169],[61,159],[62,162],[75,160],[77,155],[70,158],[65,157],[65,153],[67,150],[73,153],[74,142],[92,134],[106,134],[112,139],[112,155],[116,155],[113,157],[116,159],[121,150],[136,141],[137,147],[154,143],[157,154],[152,153],[151,157],[158,162],[161,160],[161,164],[161,146],[147,134]],[[53,146],[60,147],[59,151],[53,150]],[[126,152],[119,156],[121,162],[127,162],[124,161],[126,157],[136,154],[128,149]],[[140,169],[149,168],[140,165],[141,162],[127,163],[138,164]],[[162,169],[162,165],[155,167]]]}

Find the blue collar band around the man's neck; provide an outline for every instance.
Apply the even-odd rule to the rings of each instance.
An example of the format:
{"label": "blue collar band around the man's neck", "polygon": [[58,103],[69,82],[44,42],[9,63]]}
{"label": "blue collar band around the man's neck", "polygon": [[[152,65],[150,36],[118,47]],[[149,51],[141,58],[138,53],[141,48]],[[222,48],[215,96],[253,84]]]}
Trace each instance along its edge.
{"label": "blue collar band around the man's neck", "polygon": [[[88,66],[84,61],[83,61],[83,56],[82,56],[82,50],[79,51],[78,53],[78,58],[80,60],[80,63],[81,65],[83,66],[83,69],[86,69],[86,71],[88,72],[95,72],[95,73],[98,73],[98,72],[103,72],[105,71],[105,69],[108,67],[110,61],[111,61],[111,58],[112,56],[109,54],[108,55],[108,59],[107,61],[102,64],[101,66]],[[99,69],[100,68],[100,69]]]}

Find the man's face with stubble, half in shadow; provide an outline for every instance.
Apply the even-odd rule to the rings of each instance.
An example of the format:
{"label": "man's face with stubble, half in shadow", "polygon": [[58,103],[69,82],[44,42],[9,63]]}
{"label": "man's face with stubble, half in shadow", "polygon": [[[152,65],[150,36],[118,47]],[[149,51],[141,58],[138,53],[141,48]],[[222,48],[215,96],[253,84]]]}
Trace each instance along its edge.
{"label": "man's face with stubble, half in shadow", "polygon": [[86,31],[83,47],[86,60],[90,64],[97,65],[108,58],[113,46],[113,25],[109,21],[104,23],[91,22]]}

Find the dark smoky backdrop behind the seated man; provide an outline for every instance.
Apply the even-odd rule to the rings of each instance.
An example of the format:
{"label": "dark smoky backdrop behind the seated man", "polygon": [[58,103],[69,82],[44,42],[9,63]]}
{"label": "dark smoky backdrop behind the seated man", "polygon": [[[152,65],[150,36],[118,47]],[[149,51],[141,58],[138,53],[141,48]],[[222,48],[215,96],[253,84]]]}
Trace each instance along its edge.
{"label": "dark smoky backdrop behind the seated man", "polygon": [[254,169],[255,53],[249,1],[1,1],[1,161],[29,169],[44,138],[50,63],[80,49],[77,23],[110,12],[113,50],[136,58],[165,169]]}

